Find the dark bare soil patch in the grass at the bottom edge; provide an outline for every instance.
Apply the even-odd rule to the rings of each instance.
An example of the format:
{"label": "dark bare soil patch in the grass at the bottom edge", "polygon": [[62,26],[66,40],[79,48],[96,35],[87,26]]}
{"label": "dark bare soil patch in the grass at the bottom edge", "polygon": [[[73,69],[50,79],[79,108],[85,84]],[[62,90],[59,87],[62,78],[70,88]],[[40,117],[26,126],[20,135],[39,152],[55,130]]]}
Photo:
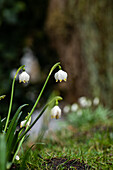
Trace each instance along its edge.
{"label": "dark bare soil patch in the grass at the bottom edge", "polygon": [[68,160],[67,158],[52,158],[52,159],[47,159],[46,163],[44,164],[46,166],[46,169],[49,170],[91,170],[89,165],[85,164],[83,161],[80,162],[78,159],[72,159]]}

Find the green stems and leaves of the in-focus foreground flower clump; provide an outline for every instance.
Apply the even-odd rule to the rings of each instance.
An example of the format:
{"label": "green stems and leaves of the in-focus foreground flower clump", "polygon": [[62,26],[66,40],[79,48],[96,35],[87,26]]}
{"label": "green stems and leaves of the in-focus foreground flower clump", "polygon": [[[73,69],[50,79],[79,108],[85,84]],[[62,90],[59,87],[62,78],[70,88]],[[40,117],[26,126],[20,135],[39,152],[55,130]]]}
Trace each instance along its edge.
{"label": "green stems and leaves of the in-focus foreground flower clump", "polygon": [[[7,114],[7,119],[3,119],[1,120],[0,117],[0,154],[3,154],[2,152],[4,152],[3,154],[3,158],[1,159],[0,165],[2,170],[10,169],[12,166],[12,163],[14,162],[16,155],[19,152],[19,149],[22,145],[22,143],[24,142],[25,136],[27,134],[27,132],[34,126],[34,124],[38,121],[38,119],[42,116],[42,114],[44,113],[44,111],[46,110],[47,107],[49,107],[49,105],[51,105],[52,103],[58,103],[59,100],[62,100],[62,97],[60,96],[56,96],[54,98],[52,98],[45,106],[44,108],[41,110],[41,112],[39,113],[39,115],[37,116],[37,118],[32,122],[32,124],[30,125],[31,122],[28,123],[28,121],[31,121],[31,115],[33,114],[42,94],[43,91],[47,85],[47,82],[51,76],[51,73],[54,71],[54,69],[56,67],[61,67],[60,63],[56,63],[50,70],[50,73],[48,74],[46,81],[42,87],[41,92],[39,93],[39,96],[37,97],[37,100],[33,106],[33,108],[31,109],[31,111],[29,112],[28,116],[26,117],[26,119],[23,121],[23,125],[21,128],[19,128],[17,130],[17,126],[19,124],[20,121],[20,117],[22,115],[22,109],[23,107],[27,106],[28,104],[24,104],[22,106],[20,106],[16,113],[14,114],[13,118],[10,120],[10,113],[12,110],[12,106],[13,106],[13,95],[14,95],[14,85],[15,85],[15,80],[17,77],[18,72],[23,69],[25,66],[21,66],[19,67],[19,69],[16,71],[16,74],[14,76],[13,82],[12,82],[12,89],[11,89],[11,99],[10,99],[10,104],[9,104],[9,110],[8,110],[8,114]],[[23,72],[23,76],[22,76],[22,81],[28,82],[29,80],[26,80],[26,74],[25,73],[25,69]],[[25,75],[25,77],[24,77]],[[20,77],[19,77],[19,81],[21,81]],[[0,96],[0,99],[4,98],[5,95]],[[5,121],[5,127],[4,127],[4,122]],[[22,122],[21,122],[22,123]],[[4,128],[4,130],[3,130]],[[31,149],[31,148],[30,148]],[[29,150],[30,150],[29,149]],[[22,167],[21,169],[24,169],[24,164],[26,161],[26,157],[28,156],[28,152],[29,150],[26,152],[25,157],[23,158],[23,162],[22,162]],[[1,155],[2,157],[2,155]]]}

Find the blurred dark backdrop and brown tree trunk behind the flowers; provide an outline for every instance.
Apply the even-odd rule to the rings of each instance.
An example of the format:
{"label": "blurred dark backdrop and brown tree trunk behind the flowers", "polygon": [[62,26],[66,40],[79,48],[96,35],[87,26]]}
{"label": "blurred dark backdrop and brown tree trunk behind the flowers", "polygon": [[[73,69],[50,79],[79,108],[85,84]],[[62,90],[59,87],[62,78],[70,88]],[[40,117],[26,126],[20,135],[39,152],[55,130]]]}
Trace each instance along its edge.
{"label": "blurred dark backdrop and brown tree trunk behind the flowers", "polygon": [[0,0],[0,95],[6,94],[0,115],[7,114],[12,71],[26,56],[32,59],[32,80],[27,86],[16,83],[13,111],[23,103],[30,104],[25,112],[30,110],[57,61],[68,72],[68,81],[55,84],[52,77],[41,104],[59,90],[66,104],[97,96],[112,108],[112,54],[112,0]]}

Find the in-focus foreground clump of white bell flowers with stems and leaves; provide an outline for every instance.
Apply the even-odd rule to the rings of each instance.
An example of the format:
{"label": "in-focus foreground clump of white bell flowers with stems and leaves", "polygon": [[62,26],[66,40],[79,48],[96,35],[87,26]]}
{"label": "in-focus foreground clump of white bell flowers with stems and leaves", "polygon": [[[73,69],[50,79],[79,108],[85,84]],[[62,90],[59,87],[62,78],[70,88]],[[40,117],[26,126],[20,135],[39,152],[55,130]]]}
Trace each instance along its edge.
{"label": "in-focus foreground clump of white bell flowers with stems and leaves", "polygon": [[[8,114],[7,114],[7,118],[5,120],[2,119],[1,122],[1,133],[0,133],[0,142],[1,142],[1,152],[0,152],[0,158],[2,157],[2,153],[4,153],[4,158],[2,159],[2,164],[0,164],[0,169],[11,169],[12,163],[16,160],[19,161],[20,158],[18,156],[18,152],[22,146],[23,141],[25,140],[25,136],[26,134],[30,131],[30,129],[35,125],[35,123],[39,120],[39,118],[42,116],[42,114],[44,113],[44,111],[47,109],[47,107],[49,107],[51,104],[53,104],[54,102],[56,102],[55,106],[51,109],[51,118],[60,118],[61,117],[61,109],[58,106],[58,101],[62,100],[61,96],[55,96],[54,98],[52,98],[50,101],[48,101],[45,106],[43,107],[43,109],[40,111],[40,113],[38,114],[38,116],[36,117],[35,120],[32,121],[31,123],[31,116],[34,113],[34,110],[36,109],[36,106],[43,94],[43,91],[47,85],[47,82],[51,76],[51,73],[53,72],[53,70],[59,67],[59,71],[57,73],[55,73],[55,79],[56,81],[66,81],[67,79],[67,73],[63,70],[61,70],[61,66],[60,66],[60,62],[56,63],[53,65],[53,67],[51,68],[45,83],[43,85],[43,88],[41,89],[32,109],[29,111],[28,116],[25,117],[25,119],[23,121],[20,122],[20,129],[19,131],[17,131],[17,126],[20,120],[20,116],[22,115],[22,109],[27,106],[28,104],[23,104],[21,105],[17,111],[15,112],[12,120],[10,120],[10,115],[11,115],[11,110],[12,110],[12,106],[13,106],[13,97],[14,97],[14,86],[15,86],[15,82],[17,80],[17,75],[18,73],[23,70],[23,72],[21,74],[19,74],[19,82],[23,82],[23,83],[28,83],[30,80],[30,76],[28,73],[26,73],[25,71],[25,65],[20,66],[18,68],[18,70],[15,72],[15,75],[13,76],[13,82],[12,82],[12,88],[11,88],[11,98],[10,98],[10,103],[9,103],[9,109],[8,109]],[[0,96],[0,100],[4,99],[5,95]],[[2,124],[2,121],[5,122],[5,124]],[[6,149],[8,148],[8,150]]]}

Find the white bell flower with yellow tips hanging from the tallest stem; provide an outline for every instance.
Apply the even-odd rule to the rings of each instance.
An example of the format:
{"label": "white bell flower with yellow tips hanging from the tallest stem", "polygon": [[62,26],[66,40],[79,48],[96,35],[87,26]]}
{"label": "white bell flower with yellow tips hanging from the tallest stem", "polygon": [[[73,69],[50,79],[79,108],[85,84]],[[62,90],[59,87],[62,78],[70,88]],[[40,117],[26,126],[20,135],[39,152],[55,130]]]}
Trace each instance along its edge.
{"label": "white bell flower with yellow tips hanging from the tallest stem", "polygon": [[67,73],[63,70],[59,70],[57,73],[55,73],[55,79],[56,79],[56,82],[59,80],[60,82],[62,80],[66,81],[67,80]]}

